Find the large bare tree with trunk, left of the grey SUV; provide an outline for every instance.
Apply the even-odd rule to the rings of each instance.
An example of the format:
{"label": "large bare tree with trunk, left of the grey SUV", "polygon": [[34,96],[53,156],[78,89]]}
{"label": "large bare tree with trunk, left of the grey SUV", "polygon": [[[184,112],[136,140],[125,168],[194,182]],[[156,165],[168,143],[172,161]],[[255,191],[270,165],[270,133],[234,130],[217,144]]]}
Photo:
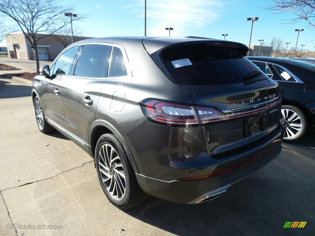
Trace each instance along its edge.
{"label": "large bare tree with trunk, left of the grey SUV", "polygon": [[[70,23],[70,19],[64,14],[74,10],[72,5],[61,5],[61,0],[0,0],[0,13],[15,21],[36,58],[36,72],[39,72],[39,59],[37,42],[43,37],[53,34],[55,31]],[[75,17],[72,21],[82,20],[88,15]],[[51,31],[54,29],[54,31]],[[36,37],[37,33],[47,33]]]}

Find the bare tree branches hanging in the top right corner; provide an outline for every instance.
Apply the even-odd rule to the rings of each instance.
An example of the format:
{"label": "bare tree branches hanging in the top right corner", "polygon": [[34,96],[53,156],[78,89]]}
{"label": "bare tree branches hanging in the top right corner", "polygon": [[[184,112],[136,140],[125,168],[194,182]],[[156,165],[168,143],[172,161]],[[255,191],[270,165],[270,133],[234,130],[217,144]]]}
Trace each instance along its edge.
{"label": "bare tree branches hanging in the top right corner", "polygon": [[301,20],[315,27],[315,1],[314,0],[272,0],[272,4],[263,9],[275,11],[277,14],[292,12],[295,18],[288,19],[289,23]]}

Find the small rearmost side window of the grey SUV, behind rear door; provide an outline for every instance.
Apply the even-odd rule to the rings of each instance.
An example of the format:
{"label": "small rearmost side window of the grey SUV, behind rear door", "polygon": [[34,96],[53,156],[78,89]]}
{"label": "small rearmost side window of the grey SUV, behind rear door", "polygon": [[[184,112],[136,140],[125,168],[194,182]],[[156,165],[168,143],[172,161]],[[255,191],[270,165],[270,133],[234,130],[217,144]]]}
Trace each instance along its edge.
{"label": "small rearmost side window of the grey SUV, behind rear door", "polygon": [[127,68],[120,48],[114,47],[112,52],[111,65],[109,68],[109,77],[127,76]]}

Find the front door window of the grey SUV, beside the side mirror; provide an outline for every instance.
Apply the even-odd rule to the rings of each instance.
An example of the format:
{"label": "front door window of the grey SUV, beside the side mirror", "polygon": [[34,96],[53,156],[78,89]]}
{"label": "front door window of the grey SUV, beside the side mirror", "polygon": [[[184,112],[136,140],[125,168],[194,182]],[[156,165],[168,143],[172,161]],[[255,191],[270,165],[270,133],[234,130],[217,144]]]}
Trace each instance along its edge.
{"label": "front door window of the grey SUV, beside the side mirror", "polygon": [[53,74],[68,75],[70,73],[73,59],[76,55],[78,47],[79,46],[69,48],[66,52],[62,53],[62,55],[56,60]]}

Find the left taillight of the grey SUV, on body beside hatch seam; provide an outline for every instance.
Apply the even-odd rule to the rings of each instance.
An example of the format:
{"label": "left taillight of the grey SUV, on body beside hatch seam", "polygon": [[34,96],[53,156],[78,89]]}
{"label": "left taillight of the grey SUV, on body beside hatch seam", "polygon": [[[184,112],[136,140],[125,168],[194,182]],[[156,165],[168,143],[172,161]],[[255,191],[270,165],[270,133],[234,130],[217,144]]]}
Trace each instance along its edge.
{"label": "left taillight of the grey SUV, on body beside hatch seam", "polygon": [[151,121],[175,126],[199,125],[194,106],[156,99],[140,102],[143,114]]}

